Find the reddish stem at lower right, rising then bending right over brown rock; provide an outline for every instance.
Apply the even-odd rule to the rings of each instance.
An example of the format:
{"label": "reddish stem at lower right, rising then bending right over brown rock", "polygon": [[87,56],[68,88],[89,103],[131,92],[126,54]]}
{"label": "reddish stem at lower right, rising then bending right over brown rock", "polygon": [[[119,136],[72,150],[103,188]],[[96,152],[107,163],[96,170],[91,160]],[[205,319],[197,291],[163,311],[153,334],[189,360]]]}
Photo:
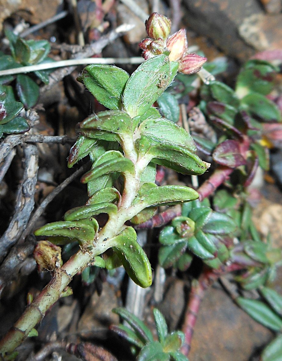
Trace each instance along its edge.
{"label": "reddish stem at lower right, rising then bending right over brown rock", "polygon": [[223,274],[241,270],[245,266],[239,264],[231,264],[229,266],[221,266],[221,269],[204,268],[203,273],[198,280],[193,280],[189,301],[186,307],[184,324],[182,331],[185,334],[185,344],[181,348],[181,353],[188,356],[191,348],[191,339],[194,332],[194,327],[197,321],[201,302],[208,287],[210,287]]}

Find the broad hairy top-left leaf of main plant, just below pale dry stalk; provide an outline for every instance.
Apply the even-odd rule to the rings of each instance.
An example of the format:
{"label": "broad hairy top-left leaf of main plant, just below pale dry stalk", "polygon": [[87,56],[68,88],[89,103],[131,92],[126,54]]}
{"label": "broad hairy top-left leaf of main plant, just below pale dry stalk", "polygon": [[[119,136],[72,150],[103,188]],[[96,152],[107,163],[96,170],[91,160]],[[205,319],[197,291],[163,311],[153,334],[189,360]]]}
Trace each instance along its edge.
{"label": "broad hairy top-left leaf of main plant, just below pale dry stalk", "polygon": [[128,79],[126,71],[106,64],[88,65],[78,77],[98,102],[109,109],[122,108],[122,94]]}

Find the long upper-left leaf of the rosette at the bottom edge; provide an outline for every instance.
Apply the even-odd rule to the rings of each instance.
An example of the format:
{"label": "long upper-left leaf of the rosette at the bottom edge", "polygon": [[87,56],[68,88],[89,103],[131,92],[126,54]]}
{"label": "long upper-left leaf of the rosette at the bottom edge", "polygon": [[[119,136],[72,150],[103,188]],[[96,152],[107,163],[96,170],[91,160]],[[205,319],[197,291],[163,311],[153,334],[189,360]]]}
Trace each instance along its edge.
{"label": "long upper-left leaf of the rosette at the bottom edge", "polygon": [[133,330],[135,330],[135,332],[140,336],[140,339],[143,343],[151,343],[154,341],[151,331],[144,322],[140,321],[137,316],[122,307],[114,308],[112,311],[122,317],[125,321],[127,321],[127,323],[129,323]]}

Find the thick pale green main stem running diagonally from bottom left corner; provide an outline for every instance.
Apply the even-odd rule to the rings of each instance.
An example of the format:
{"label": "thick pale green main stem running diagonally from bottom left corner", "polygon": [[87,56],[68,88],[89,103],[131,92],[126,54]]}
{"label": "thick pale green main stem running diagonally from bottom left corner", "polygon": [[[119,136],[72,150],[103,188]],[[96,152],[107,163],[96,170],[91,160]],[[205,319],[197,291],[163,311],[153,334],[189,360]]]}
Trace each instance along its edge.
{"label": "thick pale green main stem running diagonally from bottom left corner", "polygon": [[[127,147],[127,156],[131,157],[131,159],[137,159],[135,147],[131,147],[130,151]],[[123,201],[118,213],[116,215],[111,214],[109,221],[99,232],[96,240],[94,240],[91,251],[78,251],[61,268],[54,271],[53,279],[42,290],[35,301],[27,307],[14,327],[0,341],[0,356],[2,355],[4,358],[5,355],[7,355],[8,357],[8,355],[27,338],[29,332],[44,317],[45,312],[60,298],[61,293],[70,283],[72,277],[90,265],[91,260],[95,256],[100,255],[110,248],[111,239],[122,230],[124,223],[140,212],[142,209],[141,205],[131,206],[131,204],[138,193],[140,172],[144,169],[144,164],[141,165],[141,162],[140,164],[136,164],[136,169],[138,170],[137,177],[131,173],[126,174],[122,196]]]}

